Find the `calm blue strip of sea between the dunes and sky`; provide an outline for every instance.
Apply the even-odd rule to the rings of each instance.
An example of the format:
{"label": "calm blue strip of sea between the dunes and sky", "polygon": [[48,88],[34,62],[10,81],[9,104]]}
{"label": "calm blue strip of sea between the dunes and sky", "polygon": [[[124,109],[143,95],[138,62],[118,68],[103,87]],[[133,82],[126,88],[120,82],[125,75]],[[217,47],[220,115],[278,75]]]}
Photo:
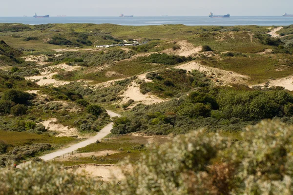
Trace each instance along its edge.
{"label": "calm blue strip of sea between the dunes and sky", "polygon": [[230,18],[209,18],[203,16],[168,16],[168,17],[0,17],[0,23],[47,24],[47,23],[111,23],[131,26],[184,24],[196,25],[260,25],[285,26],[293,24],[293,17],[283,16],[232,16]]}

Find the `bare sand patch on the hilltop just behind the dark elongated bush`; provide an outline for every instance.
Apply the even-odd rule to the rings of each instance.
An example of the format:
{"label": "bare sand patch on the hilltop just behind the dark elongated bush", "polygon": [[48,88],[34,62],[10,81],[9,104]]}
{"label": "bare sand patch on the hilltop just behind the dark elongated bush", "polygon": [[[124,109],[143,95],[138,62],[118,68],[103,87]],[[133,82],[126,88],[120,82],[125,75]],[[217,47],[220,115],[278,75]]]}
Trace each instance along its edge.
{"label": "bare sand patch on the hilltop just behind the dark elongated bush", "polygon": [[188,43],[187,40],[180,40],[176,44],[180,46],[180,49],[174,51],[172,48],[169,48],[164,50],[163,53],[188,57],[202,50],[201,46],[195,47],[193,44]]}

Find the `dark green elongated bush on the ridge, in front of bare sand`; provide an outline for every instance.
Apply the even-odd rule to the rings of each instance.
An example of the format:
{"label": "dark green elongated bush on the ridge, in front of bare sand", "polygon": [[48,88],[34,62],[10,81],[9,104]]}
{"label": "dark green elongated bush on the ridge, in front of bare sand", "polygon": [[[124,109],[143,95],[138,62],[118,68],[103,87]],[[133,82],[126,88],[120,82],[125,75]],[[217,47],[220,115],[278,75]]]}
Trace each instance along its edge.
{"label": "dark green elongated bush on the ridge, in front of bare sand", "polygon": [[163,53],[163,54],[151,54],[146,58],[146,60],[149,63],[175,65],[175,64],[182,63],[184,61],[191,60],[191,58],[190,57],[186,58],[184,56],[169,56]]}

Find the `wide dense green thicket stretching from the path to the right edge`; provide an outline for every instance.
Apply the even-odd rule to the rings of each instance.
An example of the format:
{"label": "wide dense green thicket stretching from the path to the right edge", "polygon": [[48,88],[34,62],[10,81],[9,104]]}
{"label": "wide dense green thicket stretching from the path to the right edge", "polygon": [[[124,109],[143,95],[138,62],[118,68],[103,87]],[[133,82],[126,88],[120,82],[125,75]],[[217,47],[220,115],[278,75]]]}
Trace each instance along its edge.
{"label": "wide dense green thicket stretching from the path to the right edge", "polygon": [[293,97],[281,89],[202,87],[187,93],[155,105],[136,105],[127,113],[127,123],[119,125],[117,120],[112,133],[183,134],[201,127],[208,127],[211,132],[219,129],[237,132],[261,119],[276,117],[293,123]]}

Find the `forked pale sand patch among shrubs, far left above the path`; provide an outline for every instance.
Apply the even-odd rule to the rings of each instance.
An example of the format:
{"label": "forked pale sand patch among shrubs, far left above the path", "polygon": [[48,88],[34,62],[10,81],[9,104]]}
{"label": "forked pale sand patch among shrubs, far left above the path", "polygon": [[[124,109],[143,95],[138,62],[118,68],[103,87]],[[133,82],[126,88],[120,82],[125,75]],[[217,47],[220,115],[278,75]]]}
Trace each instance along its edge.
{"label": "forked pale sand patch among shrubs, far left above the path", "polygon": [[74,71],[79,69],[80,66],[69,66],[67,64],[58,64],[55,66],[48,66],[46,68],[43,68],[41,71],[41,75],[38,76],[32,76],[32,77],[26,77],[26,80],[38,80],[36,83],[38,85],[51,85],[51,86],[61,86],[61,85],[65,85],[68,84],[68,81],[63,81],[63,80],[56,80],[54,78],[52,78],[53,75],[58,74],[57,72],[59,70],[64,70],[64,71]]}

